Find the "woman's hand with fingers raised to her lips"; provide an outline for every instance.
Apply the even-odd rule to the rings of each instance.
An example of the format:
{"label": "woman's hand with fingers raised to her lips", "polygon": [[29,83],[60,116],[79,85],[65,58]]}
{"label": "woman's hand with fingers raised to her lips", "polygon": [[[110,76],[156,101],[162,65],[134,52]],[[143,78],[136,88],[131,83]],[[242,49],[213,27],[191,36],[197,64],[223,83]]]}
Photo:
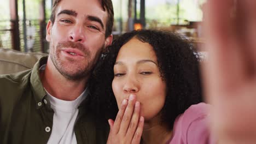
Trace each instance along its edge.
{"label": "woman's hand with fingers raised to her lips", "polygon": [[136,144],[141,141],[144,118],[140,116],[139,111],[140,104],[134,94],[131,94],[128,100],[123,100],[115,121],[108,120],[110,125],[108,144]]}

